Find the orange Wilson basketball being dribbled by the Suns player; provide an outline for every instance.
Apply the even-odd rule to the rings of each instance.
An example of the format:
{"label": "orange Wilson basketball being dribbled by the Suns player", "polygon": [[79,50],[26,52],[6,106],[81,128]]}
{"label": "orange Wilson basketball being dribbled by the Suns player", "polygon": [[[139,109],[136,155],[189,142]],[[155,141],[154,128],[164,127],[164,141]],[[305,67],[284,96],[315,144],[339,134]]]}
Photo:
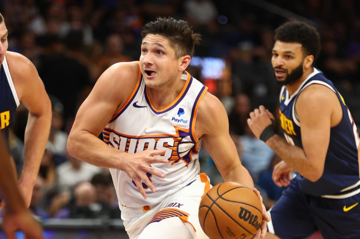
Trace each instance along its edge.
{"label": "orange Wilson basketball being dribbled by the Suns player", "polygon": [[235,182],[215,185],[201,199],[199,221],[210,239],[248,239],[260,229],[260,199]]}

